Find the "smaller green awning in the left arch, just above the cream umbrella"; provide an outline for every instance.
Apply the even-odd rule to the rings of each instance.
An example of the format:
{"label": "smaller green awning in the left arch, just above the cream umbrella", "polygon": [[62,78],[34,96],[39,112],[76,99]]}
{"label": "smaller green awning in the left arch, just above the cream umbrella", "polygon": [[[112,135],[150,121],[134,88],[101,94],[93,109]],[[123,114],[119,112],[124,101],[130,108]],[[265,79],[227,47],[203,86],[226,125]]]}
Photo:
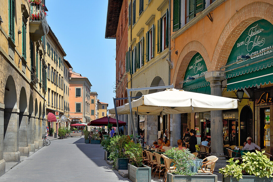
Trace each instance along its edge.
{"label": "smaller green awning in the left arch, just above the cream umbrella", "polygon": [[183,83],[183,90],[210,95],[210,83],[207,82],[205,77],[203,76],[195,80]]}

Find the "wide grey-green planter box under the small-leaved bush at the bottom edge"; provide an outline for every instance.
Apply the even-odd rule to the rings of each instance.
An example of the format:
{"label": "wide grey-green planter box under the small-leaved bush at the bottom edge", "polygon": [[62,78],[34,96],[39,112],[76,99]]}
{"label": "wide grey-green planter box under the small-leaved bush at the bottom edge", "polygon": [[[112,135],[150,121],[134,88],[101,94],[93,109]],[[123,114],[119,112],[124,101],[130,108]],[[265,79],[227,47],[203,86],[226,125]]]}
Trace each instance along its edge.
{"label": "wide grey-green planter box under the small-leaved bush at the bottom edge", "polygon": [[192,176],[174,175],[167,172],[167,182],[217,182],[217,175],[211,173],[197,173]]}

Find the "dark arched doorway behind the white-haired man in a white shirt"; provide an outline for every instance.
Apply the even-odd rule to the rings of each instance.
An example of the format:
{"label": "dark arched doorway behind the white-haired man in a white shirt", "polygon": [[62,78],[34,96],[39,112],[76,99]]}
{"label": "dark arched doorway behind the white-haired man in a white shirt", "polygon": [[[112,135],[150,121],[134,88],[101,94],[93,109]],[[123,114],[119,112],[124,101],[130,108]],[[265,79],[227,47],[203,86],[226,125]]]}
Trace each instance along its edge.
{"label": "dark arched doorway behind the white-haired man in a white shirt", "polygon": [[249,106],[244,106],[240,113],[240,145],[244,146],[247,137],[253,138],[253,112]]}

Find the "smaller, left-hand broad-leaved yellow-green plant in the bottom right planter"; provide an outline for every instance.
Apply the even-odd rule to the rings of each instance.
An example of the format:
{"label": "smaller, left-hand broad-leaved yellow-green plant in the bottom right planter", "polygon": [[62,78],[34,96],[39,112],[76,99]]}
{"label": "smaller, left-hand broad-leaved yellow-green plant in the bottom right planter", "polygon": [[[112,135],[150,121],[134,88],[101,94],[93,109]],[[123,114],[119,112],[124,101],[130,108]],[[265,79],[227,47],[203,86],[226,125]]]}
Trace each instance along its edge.
{"label": "smaller, left-hand broad-leaved yellow-green plant in the bottom right planter", "polygon": [[227,160],[229,165],[226,165],[224,168],[219,169],[219,173],[223,174],[225,178],[234,177],[237,181],[242,178],[242,167],[237,163],[239,160],[233,161],[233,158]]}

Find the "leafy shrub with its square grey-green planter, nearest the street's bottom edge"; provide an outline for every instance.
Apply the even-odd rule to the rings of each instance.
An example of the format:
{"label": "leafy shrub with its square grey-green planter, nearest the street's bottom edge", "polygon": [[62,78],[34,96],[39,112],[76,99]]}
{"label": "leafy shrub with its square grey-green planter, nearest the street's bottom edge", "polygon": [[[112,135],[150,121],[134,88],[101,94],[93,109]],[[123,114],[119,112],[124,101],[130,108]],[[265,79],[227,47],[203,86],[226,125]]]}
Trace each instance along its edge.
{"label": "leafy shrub with its square grey-green planter, nearest the street's bottom edge", "polygon": [[151,181],[151,168],[142,163],[142,148],[140,144],[129,142],[125,145],[125,154],[130,159],[128,178],[134,182]]}

